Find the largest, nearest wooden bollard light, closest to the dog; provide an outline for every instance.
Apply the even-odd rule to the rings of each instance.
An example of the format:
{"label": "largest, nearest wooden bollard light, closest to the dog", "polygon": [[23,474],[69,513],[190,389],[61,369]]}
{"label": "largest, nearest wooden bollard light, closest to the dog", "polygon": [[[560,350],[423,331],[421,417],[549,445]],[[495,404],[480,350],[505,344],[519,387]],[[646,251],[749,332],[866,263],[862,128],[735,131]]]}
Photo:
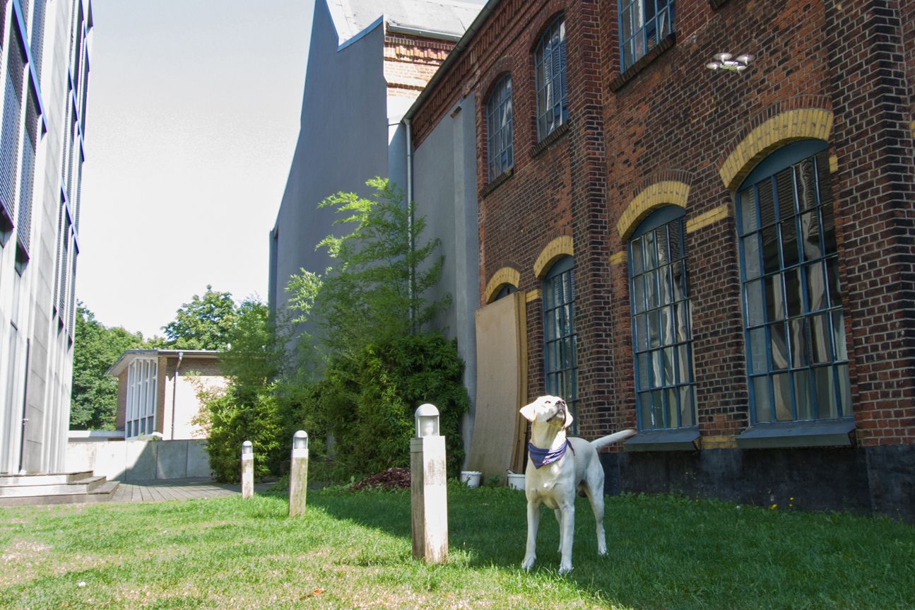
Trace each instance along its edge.
{"label": "largest, nearest wooden bollard light, closest to the dog", "polygon": [[413,556],[427,563],[448,559],[448,497],[445,437],[438,433],[438,409],[416,409],[416,438],[410,440],[410,509]]}

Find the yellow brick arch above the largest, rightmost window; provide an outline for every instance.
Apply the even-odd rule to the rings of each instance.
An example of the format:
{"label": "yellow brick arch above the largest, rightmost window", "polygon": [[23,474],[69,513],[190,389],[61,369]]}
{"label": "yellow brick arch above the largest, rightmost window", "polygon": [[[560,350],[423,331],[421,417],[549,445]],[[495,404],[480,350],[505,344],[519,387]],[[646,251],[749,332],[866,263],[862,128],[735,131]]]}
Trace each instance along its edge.
{"label": "yellow brick arch above the largest, rightmost window", "polygon": [[728,191],[736,191],[749,172],[777,148],[796,140],[828,140],[833,113],[824,108],[786,110],[753,128],[718,170]]}

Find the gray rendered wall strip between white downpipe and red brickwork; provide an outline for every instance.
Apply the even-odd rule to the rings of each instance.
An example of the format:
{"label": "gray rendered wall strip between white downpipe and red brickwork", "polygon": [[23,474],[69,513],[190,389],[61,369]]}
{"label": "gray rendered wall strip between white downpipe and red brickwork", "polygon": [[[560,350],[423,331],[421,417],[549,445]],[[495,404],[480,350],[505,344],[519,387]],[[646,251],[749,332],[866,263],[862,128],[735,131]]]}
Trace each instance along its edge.
{"label": "gray rendered wall strip between white downpipe and red brickwork", "polygon": [[442,240],[445,266],[439,294],[451,293],[453,304],[437,321],[448,337],[458,339],[458,354],[467,367],[464,383],[471,411],[464,421],[464,448],[469,453],[473,430],[472,402],[477,393],[477,338],[474,313],[479,307],[479,233],[477,228],[477,155],[474,97],[455,110],[414,151],[414,201],[425,216],[426,237]]}

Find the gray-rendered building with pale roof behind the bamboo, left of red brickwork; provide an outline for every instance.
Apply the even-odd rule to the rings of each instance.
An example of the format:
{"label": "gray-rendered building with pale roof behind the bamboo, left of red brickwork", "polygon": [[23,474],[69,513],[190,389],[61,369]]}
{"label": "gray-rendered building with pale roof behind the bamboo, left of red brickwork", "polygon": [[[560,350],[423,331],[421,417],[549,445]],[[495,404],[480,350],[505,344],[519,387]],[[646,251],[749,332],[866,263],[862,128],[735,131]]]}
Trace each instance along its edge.
{"label": "gray-rendered building with pale roof behind the bamboo, left of red brickwork", "polygon": [[[474,383],[473,316],[478,295],[476,182],[473,172],[460,179],[430,184],[424,198],[412,191],[423,176],[413,175],[407,143],[411,128],[404,114],[479,12],[483,0],[318,0],[308,50],[301,129],[289,169],[283,201],[270,233],[268,302],[285,311],[289,277],[306,268],[322,272],[326,253],[315,245],[339,230],[331,210],[319,202],[337,192],[370,194],[366,180],[389,178],[416,202],[445,256],[439,294],[454,297],[455,307],[439,326],[458,337],[468,362],[468,387]],[[472,114],[464,114],[442,137],[448,142],[473,139]],[[449,128],[450,129],[450,128]],[[444,140],[443,140],[444,141]],[[472,168],[472,149],[449,144],[436,158],[417,158],[419,169],[456,164]],[[409,169],[408,169],[409,168]],[[430,199],[435,197],[435,202]],[[446,198],[441,200],[440,198]],[[446,201],[447,214],[439,208]],[[468,290],[467,287],[470,287]],[[471,392],[472,396],[472,392]]]}

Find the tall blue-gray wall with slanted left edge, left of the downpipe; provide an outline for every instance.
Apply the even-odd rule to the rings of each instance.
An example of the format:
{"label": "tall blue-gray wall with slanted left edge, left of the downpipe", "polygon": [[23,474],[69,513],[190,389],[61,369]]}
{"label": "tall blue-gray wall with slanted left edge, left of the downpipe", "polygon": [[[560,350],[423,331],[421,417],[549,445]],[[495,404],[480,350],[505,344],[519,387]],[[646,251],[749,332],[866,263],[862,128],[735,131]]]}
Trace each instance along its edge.
{"label": "tall blue-gray wall with slanted left edge, left of the downpipe", "polygon": [[315,245],[334,215],[316,210],[338,191],[368,194],[365,181],[388,173],[384,33],[379,24],[338,50],[327,5],[315,3],[302,121],[295,157],[276,217],[268,300],[282,314],[285,285],[301,267],[322,271],[328,257]]}

